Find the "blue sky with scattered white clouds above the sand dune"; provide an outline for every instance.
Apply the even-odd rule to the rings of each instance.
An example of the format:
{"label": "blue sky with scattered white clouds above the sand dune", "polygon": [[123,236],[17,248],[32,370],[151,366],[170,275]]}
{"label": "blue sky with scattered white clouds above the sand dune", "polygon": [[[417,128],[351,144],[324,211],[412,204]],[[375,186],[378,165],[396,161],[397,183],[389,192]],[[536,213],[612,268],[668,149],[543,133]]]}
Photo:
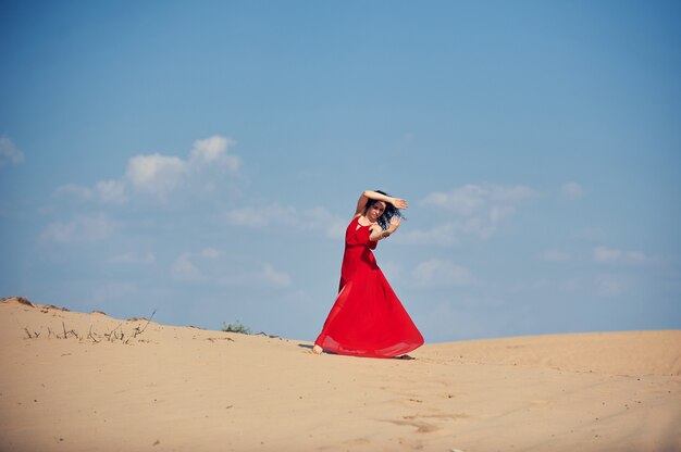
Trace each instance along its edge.
{"label": "blue sky with scattered white clouds above the sand dune", "polygon": [[678,2],[0,3],[0,297],[313,340],[364,189],[426,341],[681,328]]}

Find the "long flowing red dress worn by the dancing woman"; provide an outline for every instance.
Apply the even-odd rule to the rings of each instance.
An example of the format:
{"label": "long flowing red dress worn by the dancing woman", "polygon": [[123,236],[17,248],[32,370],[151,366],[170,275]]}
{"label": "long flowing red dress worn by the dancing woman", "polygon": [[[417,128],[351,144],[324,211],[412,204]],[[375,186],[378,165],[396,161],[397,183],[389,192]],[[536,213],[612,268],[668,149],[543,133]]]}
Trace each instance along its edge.
{"label": "long flowing red dress worn by the dancing woman", "polygon": [[345,233],[340,287],[315,344],[339,354],[394,357],[423,344],[423,337],[376,265],[370,226],[352,218]]}

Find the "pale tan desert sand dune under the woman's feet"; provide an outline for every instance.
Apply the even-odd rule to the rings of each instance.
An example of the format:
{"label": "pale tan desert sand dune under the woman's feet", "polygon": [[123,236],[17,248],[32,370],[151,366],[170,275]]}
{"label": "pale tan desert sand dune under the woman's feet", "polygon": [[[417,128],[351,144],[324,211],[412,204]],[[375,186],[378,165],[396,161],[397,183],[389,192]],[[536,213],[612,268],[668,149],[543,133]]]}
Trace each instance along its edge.
{"label": "pale tan desert sand dune under the woman's feet", "polygon": [[681,451],[681,331],[416,360],[0,302],[1,451]]}

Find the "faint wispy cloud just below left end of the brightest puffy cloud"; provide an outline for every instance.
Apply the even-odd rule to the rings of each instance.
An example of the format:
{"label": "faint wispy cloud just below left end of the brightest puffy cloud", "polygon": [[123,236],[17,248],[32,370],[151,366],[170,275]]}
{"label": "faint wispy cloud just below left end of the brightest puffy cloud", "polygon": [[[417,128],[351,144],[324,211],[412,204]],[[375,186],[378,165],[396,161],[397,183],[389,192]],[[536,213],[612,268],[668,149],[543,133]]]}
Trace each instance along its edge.
{"label": "faint wispy cloud just below left end of the brightest puffy cloud", "polygon": [[114,224],[102,214],[78,216],[71,222],[49,224],[41,238],[57,243],[92,242],[106,239],[114,229]]}

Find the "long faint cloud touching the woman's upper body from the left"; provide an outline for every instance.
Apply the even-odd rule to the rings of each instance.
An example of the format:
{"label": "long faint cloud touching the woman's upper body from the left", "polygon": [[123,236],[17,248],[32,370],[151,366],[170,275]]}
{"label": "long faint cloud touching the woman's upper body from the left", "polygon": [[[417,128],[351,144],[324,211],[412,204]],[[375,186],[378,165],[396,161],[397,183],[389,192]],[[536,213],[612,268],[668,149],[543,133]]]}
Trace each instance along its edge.
{"label": "long faint cloud touching the woman's upper body from the left", "polygon": [[346,222],[324,208],[298,210],[277,203],[258,208],[235,209],[226,213],[227,223],[255,228],[276,225],[297,230],[319,230],[330,238],[342,238]]}

